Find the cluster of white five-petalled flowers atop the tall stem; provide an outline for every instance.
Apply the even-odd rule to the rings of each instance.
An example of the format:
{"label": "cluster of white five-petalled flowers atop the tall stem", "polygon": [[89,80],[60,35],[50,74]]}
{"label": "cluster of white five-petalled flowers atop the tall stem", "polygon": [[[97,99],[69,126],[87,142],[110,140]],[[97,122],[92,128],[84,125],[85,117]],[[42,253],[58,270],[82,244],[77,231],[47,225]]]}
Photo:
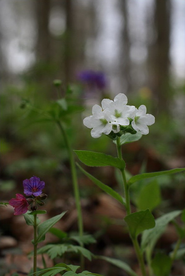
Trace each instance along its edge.
{"label": "cluster of white five-petalled flowers atop the tall stem", "polygon": [[114,101],[102,100],[102,108],[99,105],[93,106],[93,115],[83,120],[86,127],[92,128],[91,136],[93,138],[99,138],[102,133],[108,135],[111,131],[118,133],[122,129],[121,126],[129,126],[130,121],[133,131],[139,131],[144,135],[148,134],[148,126],[155,122],[155,117],[146,114],[145,105],[140,105],[137,109],[133,105],[126,105],[127,101],[126,95],[120,93],[114,98]]}

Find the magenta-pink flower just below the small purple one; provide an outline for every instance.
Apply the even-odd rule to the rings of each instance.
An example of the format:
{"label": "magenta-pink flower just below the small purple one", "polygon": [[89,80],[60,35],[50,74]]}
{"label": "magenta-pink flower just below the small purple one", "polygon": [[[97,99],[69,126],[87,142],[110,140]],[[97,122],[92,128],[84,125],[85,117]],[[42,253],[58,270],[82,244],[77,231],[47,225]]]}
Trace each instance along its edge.
{"label": "magenta-pink flower just below the small purple one", "polygon": [[9,204],[15,208],[14,209],[15,216],[24,214],[28,211],[29,204],[26,198],[24,197],[24,195],[22,194],[16,194],[16,198],[12,198],[9,201]]}

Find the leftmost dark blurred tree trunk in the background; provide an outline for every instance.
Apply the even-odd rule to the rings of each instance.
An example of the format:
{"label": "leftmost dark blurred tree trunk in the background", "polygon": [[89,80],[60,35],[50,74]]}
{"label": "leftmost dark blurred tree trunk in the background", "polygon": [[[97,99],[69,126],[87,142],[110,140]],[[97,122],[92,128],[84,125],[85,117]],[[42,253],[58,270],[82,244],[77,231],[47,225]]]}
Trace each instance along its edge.
{"label": "leftmost dark blurred tree trunk in the background", "polygon": [[39,61],[49,62],[51,58],[50,51],[50,33],[49,16],[50,0],[37,0],[37,59]]}

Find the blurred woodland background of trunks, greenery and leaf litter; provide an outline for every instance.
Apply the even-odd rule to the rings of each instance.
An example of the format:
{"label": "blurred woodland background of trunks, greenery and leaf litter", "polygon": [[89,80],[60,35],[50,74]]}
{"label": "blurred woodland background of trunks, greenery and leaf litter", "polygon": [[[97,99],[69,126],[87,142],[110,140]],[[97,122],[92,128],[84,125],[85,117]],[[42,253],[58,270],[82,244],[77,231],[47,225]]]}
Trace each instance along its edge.
{"label": "blurred woodland background of trunks, greenery and leaf litter", "polygon": [[[40,111],[27,108],[31,103],[37,110],[46,110],[58,96],[65,96],[66,87],[75,103],[84,108],[64,122],[73,149],[116,156],[112,141],[106,136],[93,139],[82,120],[103,98],[125,93],[129,105],[145,104],[156,117],[147,136],[123,147],[128,171],[137,174],[141,169],[185,167],[184,1],[1,0],[0,41],[1,201],[22,193],[22,181],[36,175],[46,182],[49,216],[71,210],[67,223],[60,227],[77,230],[63,137],[54,124],[40,120]],[[89,74],[98,74],[98,81]],[[59,90],[53,85],[55,79],[62,81]],[[110,168],[88,170],[117,188],[117,177]],[[124,210],[112,209],[109,198],[80,172],[78,176],[85,230],[97,233],[103,229],[104,233],[92,250],[131,258],[136,265],[128,235],[123,237],[122,230],[117,230]],[[184,208],[184,183],[183,174],[159,179],[162,200],[156,216]],[[30,265],[26,253],[32,250],[29,243],[25,246],[29,231],[20,216],[13,216],[12,207],[0,209],[2,275],[10,270],[6,263],[26,272]],[[173,227],[169,231],[161,242],[166,247],[174,241]],[[25,258],[26,267],[21,267],[20,258]],[[96,265],[94,272],[126,275],[112,272],[105,264],[104,269]]]}

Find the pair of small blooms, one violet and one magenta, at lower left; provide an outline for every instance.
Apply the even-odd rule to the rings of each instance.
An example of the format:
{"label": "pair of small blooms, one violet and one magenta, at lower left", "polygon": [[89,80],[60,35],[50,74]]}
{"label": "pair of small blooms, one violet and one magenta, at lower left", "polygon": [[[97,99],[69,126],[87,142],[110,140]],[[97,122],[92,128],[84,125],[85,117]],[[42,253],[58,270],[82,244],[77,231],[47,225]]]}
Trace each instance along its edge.
{"label": "pair of small blooms, one violet and one magenta, at lower left", "polygon": [[11,198],[9,204],[15,208],[14,215],[26,213],[28,211],[29,203],[34,201],[34,197],[42,194],[44,186],[44,181],[40,181],[40,178],[37,176],[23,180],[24,194],[27,196],[33,196],[33,198],[27,200],[22,194],[16,194],[16,198]]}

